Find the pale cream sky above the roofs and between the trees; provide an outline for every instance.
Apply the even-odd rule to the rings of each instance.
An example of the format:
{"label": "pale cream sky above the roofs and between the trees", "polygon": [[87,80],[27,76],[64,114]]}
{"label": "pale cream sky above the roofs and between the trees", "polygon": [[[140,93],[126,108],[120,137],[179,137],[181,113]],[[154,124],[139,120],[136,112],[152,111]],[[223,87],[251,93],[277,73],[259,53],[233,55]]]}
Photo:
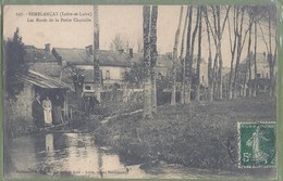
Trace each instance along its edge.
{"label": "pale cream sky above the roofs and between the trees", "polygon": [[[13,33],[19,27],[23,42],[37,48],[44,48],[45,43],[51,43],[51,48],[81,49],[93,44],[93,5],[5,5],[3,16],[4,39],[8,37],[12,38]],[[159,54],[173,51],[179,16],[180,5],[159,5],[157,21],[157,49]],[[44,18],[47,22],[39,22],[44,21]],[[182,27],[184,18],[185,12],[183,13]],[[67,22],[70,20],[72,22]],[[75,22],[74,20],[86,22]],[[99,26],[101,50],[109,50],[110,42],[115,35],[122,35],[130,41],[134,52],[136,52],[137,42],[143,42],[143,7],[99,5]],[[205,22],[202,22],[202,26],[206,26]],[[180,43],[182,33],[183,29],[180,35]],[[213,48],[212,41],[211,44]],[[258,38],[258,52],[263,52],[266,47],[261,37]],[[202,56],[207,59],[208,42],[205,29],[201,47]],[[244,47],[242,60],[247,54],[245,49],[246,47]],[[230,66],[231,55],[227,28],[225,28],[223,35],[222,54],[224,66]]]}

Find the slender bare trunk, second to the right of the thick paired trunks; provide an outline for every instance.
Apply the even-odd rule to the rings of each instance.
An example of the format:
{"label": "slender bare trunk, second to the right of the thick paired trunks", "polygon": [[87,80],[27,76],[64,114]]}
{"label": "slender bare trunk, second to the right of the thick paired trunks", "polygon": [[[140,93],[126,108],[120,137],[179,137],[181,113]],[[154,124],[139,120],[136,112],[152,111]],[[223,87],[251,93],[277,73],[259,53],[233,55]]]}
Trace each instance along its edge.
{"label": "slender bare trunk, second to the right of the thick paired trunks", "polygon": [[181,64],[182,64],[181,98],[180,98],[181,104],[185,103],[184,86],[185,86],[185,78],[186,78],[186,75],[185,75],[186,65],[185,65],[185,59],[184,59],[184,47],[185,47],[185,33],[186,33],[186,27],[187,27],[187,22],[188,22],[188,14],[189,14],[189,9],[187,8],[185,25],[184,25],[184,30],[183,30],[183,35],[182,35],[181,55],[180,55]]}

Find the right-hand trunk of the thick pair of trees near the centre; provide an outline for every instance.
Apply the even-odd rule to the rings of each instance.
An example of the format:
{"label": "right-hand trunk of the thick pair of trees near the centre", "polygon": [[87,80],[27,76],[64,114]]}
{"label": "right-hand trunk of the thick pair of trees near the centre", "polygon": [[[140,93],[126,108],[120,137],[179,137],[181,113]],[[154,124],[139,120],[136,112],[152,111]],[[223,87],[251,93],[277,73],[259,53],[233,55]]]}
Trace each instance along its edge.
{"label": "right-hand trunk of the thick pair of trees near the centre", "polygon": [[151,10],[151,27],[150,27],[150,56],[151,56],[151,104],[152,113],[157,113],[157,77],[156,77],[156,63],[157,63],[157,17],[158,7],[152,5]]}

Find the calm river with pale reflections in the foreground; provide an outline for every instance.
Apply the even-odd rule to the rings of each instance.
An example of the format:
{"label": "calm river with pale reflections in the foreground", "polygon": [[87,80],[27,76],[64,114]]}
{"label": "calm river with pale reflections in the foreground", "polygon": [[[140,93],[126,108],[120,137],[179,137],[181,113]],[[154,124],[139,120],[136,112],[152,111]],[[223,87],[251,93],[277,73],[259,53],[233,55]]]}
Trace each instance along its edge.
{"label": "calm river with pale reflections in the foreground", "polygon": [[[5,145],[8,146],[8,145]],[[108,178],[108,179],[192,179],[239,177],[232,172],[193,169],[160,161],[140,169],[125,164],[108,147],[96,144],[91,133],[39,133],[9,142],[7,178]],[[131,159],[131,158],[130,158]],[[10,166],[12,165],[12,166]]]}

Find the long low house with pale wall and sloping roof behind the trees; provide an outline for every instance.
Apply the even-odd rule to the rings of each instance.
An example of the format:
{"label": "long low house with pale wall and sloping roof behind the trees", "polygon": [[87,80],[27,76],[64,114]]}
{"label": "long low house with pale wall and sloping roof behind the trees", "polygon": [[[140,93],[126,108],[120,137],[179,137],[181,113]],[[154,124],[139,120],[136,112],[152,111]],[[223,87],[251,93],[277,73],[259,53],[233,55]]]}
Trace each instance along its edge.
{"label": "long low house with pale wall and sloping roof behind the trees", "polygon": [[[64,64],[76,68],[79,74],[85,76],[84,93],[94,92],[94,54],[93,47],[85,49],[53,48],[52,53],[59,64]],[[143,61],[142,53],[99,50],[99,67],[101,70],[102,90],[110,90],[113,86],[123,88],[123,77],[125,72],[130,70],[134,62]],[[169,66],[172,67],[172,61],[168,55],[159,55],[157,61],[157,74],[168,75]]]}

